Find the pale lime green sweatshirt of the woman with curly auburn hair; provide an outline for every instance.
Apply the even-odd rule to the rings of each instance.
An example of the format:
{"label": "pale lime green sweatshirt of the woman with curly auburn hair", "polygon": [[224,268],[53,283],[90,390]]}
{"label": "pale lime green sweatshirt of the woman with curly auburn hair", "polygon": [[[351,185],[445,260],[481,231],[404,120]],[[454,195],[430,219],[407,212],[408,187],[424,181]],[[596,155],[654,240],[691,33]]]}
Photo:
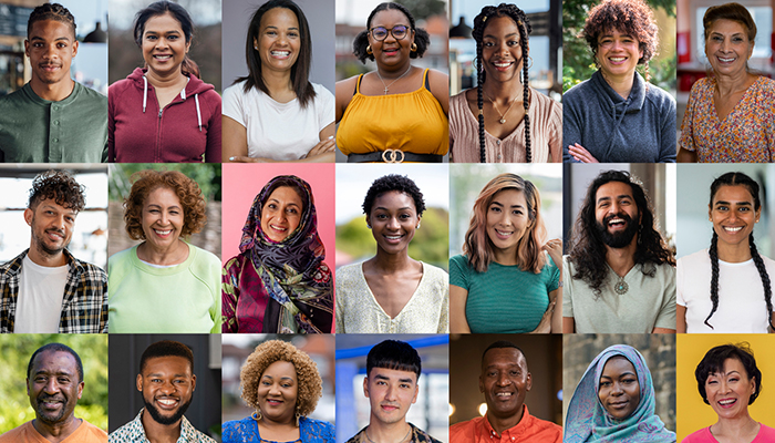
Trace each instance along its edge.
{"label": "pale lime green sweatshirt of the woman with curly auburn hair", "polygon": [[220,260],[188,245],[186,261],[156,268],[137,247],[107,260],[110,332],[220,332]]}

